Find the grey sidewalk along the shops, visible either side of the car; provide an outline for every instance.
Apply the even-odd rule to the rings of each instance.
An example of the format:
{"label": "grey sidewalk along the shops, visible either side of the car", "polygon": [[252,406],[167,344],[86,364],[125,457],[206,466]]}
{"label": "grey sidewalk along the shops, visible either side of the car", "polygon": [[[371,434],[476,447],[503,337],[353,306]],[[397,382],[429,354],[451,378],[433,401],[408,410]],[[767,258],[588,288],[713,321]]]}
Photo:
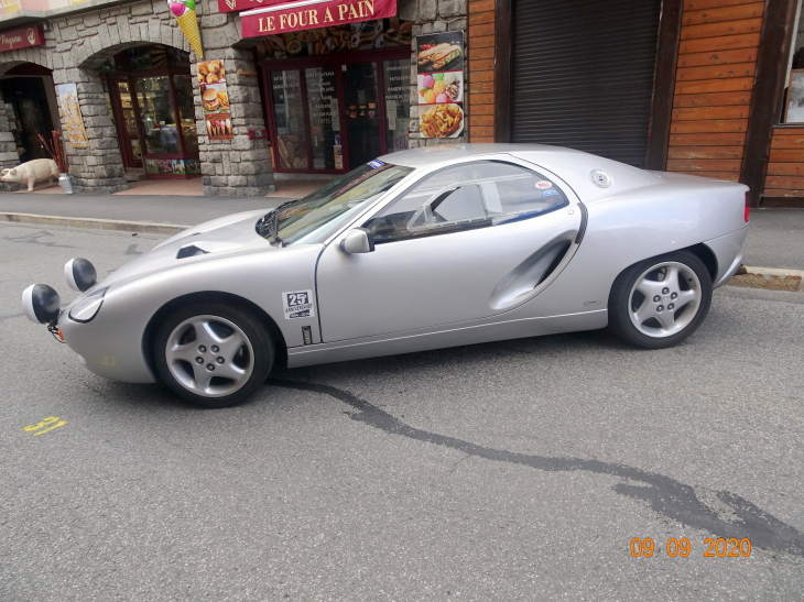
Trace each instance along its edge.
{"label": "grey sidewalk along the shops, visible either side of the car", "polygon": [[[324,182],[322,182],[322,185]],[[307,186],[309,187],[309,186]],[[306,190],[311,191],[311,190]],[[297,197],[303,196],[298,190]],[[54,195],[40,193],[0,194],[0,221],[26,221],[58,226],[89,227],[170,234],[217,217],[270,209],[294,198],[284,193],[269,197]],[[296,197],[296,198],[297,198]],[[25,214],[25,219],[9,219]],[[63,218],[77,218],[68,223]],[[105,220],[89,225],[82,220]],[[159,225],[137,228],[135,225]],[[753,209],[751,230],[745,245],[745,264],[750,266],[804,270],[804,209]]]}

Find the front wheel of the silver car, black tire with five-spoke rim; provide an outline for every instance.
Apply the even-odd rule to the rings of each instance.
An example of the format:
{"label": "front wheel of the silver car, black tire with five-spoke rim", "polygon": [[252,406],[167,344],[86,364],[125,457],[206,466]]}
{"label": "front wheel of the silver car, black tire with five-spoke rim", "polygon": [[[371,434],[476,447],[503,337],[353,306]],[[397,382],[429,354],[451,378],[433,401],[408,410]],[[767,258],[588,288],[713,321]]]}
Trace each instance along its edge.
{"label": "front wheel of the silver car, black tire with five-spoke rim", "polygon": [[[189,359],[196,361],[185,361],[177,358],[177,353],[173,353],[171,365],[169,365],[169,339],[174,338],[173,344],[176,342],[177,337],[184,337],[178,341],[182,343],[182,349],[185,346],[191,346],[191,343],[194,344],[197,337],[195,327],[192,325],[187,327],[185,322],[195,318],[199,320],[199,324],[206,320],[216,336],[224,337],[220,343],[221,347],[209,344],[193,349],[188,348],[189,352],[197,353],[197,358],[202,358],[203,361],[196,363],[197,358]],[[180,327],[181,329],[176,330]],[[239,332],[237,329],[239,329]],[[227,332],[229,339],[226,339]],[[206,332],[202,335],[202,337],[207,336]],[[246,342],[237,348],[239,350],[231,358],[227,359],[225,357],[227,350],[236,349],[242,339]],[[227,343],[227,340],[230,342]],[[200,340],[200,342],[205,341]],[[227,344],[229,344],[228,348]],[[200,347],[205,348],[204,352],[198,351]],[[218,351],[213,352],[213,349]],[[203,407],[228,407],[246,399],[265,382],[275,357],[271,335],[259,316],[247,308],[220,303],[194,304],[170,315],[156,331],[153,354],[162,382],[181,397]],[[229,364],[226,364],[227,361]],[[225,369],[232,370],[229,368],[232,364],[233,369],[243,372],[240,381],[215,374],[216,368],[219,369],[218,374],[224,374]],[[209,365],[213,368],[209,369]],[[206,376],[210,379],[209,386],[204,390],[199,386],[194,387],[204,379],[205,374],[202,372],[204,370],[208,372]],[[248,373],[249,370],[250,374]],[[231,388],[231,392],[229,392],[229,388]]]}

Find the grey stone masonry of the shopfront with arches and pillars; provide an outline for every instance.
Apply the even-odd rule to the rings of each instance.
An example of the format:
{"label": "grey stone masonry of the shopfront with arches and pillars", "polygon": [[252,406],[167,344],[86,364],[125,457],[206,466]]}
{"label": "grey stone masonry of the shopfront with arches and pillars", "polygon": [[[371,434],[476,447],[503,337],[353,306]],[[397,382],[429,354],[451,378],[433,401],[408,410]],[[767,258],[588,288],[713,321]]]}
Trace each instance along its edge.
{"label": "grey stone masonry of the shopfront with arches and pillars", "polygon": [[[199,86],[194,77],[204,193],[215,196],[264,195],[272,190],[274,180],[269,142],[265,139],[252,140],[248,134],[249,130],[265,129],[265,114],[270,114],[265,110],[259,69],[252,52],[257,40],[243,39],[238,13],[220,13],[215,0],[196,2],[196,14],[205,59],[225,61],[233,133],[232,140],[209,140]],[[399,0],[398,14],[400,19],[414,21],[414,36],[467,29],[467,0]],[[44,37],[43,46],[0,52],[0,75],[15,65],[34,63],[52,69],[55,85],[75,83],[89,143],[86,149],[72,147],[65,134],[75,189],[86,194],[110,194],[126,189],[128,185],[120,144],[109,114],[104,75],[99,73],[99,67],[109,57],[127,48],[164,44],[189,52],[191,72],[195,75],[198,61],[195,53],[164,0],[97,10],[85,8],[79,13],[54,15],[46,21]],[[415,69],[413,50],[412,57],[412,68]],[[465,67],[465,81],[468,84],[467,76]],[[415,80],[413,73],[412,81]],[[458,139],[420,139],[415,85],[411,86],[411,99],[410,146],[455,144],[468,140],[468,123]],[[1,109],[0,106],[0,165],[8,167],[17,163],[18,156],[10,139],[6,112]],[[468,110],[468,102],[465,109]]]}

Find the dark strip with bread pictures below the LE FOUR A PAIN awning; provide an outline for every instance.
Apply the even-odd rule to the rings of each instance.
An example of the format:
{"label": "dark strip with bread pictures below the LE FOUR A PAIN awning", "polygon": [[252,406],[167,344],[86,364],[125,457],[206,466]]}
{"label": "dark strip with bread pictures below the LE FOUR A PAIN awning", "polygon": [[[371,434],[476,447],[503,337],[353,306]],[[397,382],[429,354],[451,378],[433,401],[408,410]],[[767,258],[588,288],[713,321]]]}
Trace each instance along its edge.
{"label": "dark strip with bread pictures below the LE FOUR A PAIN awning", "polygon": [[265,58],[297,58],[411,43],[413,21],[399,17],[268,35],[257,43],[257,55]]}

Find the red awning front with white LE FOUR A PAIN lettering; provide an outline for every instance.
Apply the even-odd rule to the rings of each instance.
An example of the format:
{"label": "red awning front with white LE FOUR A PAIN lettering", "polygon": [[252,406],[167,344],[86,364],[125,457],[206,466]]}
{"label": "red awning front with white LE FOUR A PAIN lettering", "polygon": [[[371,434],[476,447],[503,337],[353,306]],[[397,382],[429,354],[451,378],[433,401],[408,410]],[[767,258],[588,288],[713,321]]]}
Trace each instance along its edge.
{"label": "red awning front with white LE FOUR A PAIN lettering", "polygon": [[[270,0],[268,0],[270,1]],[[332,28],[396,14],[396,0],[302,0],[240,13],[243,37]]]}

